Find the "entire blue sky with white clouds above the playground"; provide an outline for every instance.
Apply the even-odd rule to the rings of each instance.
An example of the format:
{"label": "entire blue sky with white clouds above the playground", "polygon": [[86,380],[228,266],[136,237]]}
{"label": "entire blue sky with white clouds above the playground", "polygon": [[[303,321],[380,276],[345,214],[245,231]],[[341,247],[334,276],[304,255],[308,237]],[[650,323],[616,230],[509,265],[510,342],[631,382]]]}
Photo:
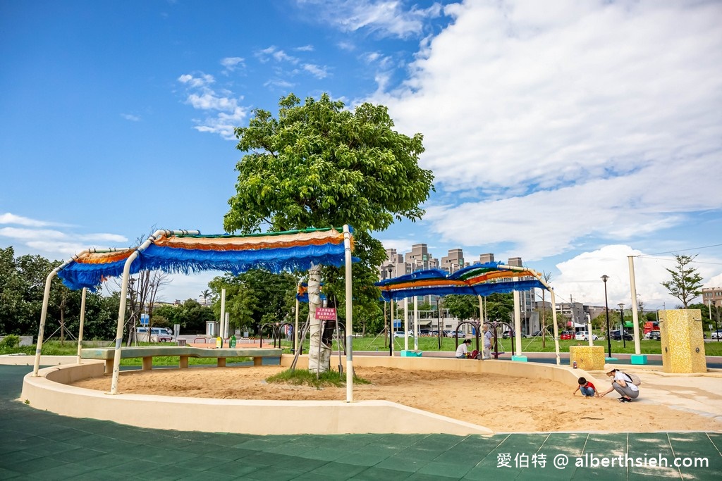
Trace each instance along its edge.
{"label": "entire blue sky with white clouds above the playground", "polygon": [[640,299],[669,308],[671,252],[722,286],[721,20],[715,1],[4,1],[0,246],[221,233],[232,128],[329,92],[425,136],[437,191],[386,247],[519,256],[590,304],[610,275],[611,305],[640,255]]}

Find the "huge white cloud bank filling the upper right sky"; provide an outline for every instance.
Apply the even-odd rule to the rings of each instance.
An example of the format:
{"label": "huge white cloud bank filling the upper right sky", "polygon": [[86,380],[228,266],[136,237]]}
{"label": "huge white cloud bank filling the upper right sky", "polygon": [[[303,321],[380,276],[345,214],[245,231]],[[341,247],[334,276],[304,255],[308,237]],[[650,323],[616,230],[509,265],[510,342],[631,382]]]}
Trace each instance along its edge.
{"label": "huge white cloud bank filling the upper right sky", "polygon": [[[432,231],[534,260],[722,208],[722,4],[466,1],[372,101],[422,132]],[[473,201],[464,202],[466,199]],[[605,242],[606,243],[606,242]]]}

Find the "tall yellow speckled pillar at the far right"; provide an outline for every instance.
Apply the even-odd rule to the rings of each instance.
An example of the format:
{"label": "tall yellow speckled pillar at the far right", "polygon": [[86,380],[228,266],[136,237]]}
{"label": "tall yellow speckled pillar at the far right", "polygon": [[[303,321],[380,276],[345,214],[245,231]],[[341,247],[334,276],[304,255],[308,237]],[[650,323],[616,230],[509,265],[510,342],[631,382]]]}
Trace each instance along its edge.
{"label": "tall yellow speckled pillar at the far right", "polygon": [[659,331],[664,372],[707,371],[700,309],[659,311]]}

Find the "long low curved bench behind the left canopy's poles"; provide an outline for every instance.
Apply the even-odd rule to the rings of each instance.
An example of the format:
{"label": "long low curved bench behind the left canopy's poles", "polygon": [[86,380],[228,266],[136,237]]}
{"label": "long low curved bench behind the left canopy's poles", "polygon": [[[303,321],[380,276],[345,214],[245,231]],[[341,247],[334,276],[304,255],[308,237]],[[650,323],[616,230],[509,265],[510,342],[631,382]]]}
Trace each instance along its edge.
{"label": "long low curved bench behind the left canopy's poles", "polygon": [[[217,358],[217,366],[225,367],[226,358],[253,358],[253,366],[261,366],[263,358],[280,358],[283,350],[276,348],[221,348],[206,349],[183,346],[143,346],[139,348],[121,348],[121,359],[143,358],[143,371],[153,368],[153,358],[156,356],[178,356],[178,367],[188,367],[188,358]],[[105,372],[113,371],[113,358],[116,356],[115,348],[81,349],[80,357],[83,359],[105,359]]]}

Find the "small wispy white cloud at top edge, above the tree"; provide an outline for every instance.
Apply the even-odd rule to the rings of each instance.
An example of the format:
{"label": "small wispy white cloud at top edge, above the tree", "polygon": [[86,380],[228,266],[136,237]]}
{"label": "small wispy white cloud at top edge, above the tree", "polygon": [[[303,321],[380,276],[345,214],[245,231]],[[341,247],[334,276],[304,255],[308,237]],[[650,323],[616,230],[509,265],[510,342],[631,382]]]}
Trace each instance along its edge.
{"label": "small wispy white cloud at top edge, above the tree", "polygon": [[404,2],[397,0],[302,0],[299,3],[312,6],[315,15],[340,30],[368,30],[382,37],[420,35],[425,20],[439,17],[442,13],[438,3],[426,9],[416,5],[405,9]]}

